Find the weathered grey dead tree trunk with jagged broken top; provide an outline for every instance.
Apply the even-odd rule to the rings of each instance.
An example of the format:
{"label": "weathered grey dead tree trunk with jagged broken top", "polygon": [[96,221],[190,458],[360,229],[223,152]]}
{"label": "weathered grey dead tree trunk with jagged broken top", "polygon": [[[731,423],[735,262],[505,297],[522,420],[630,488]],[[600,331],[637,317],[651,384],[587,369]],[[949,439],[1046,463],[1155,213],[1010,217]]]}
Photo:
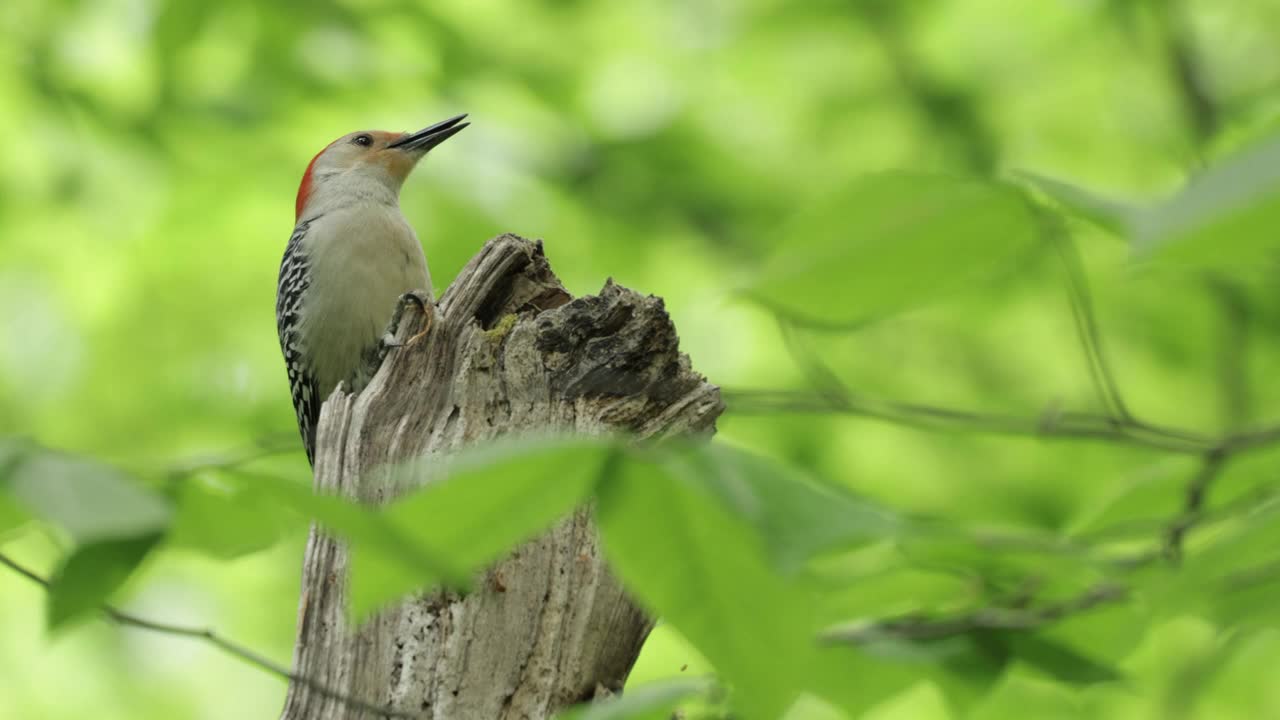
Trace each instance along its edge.
{"label": "weathered grey dead tree trunk with jagged broken top", "polygon": [[[399,340],[419,333],[406,316]],[[357,396],[321,411],[316,487],[383,502],[366,478],[410,457],[504,434],[714,432],[719,391],[689,366],[662,300],[611,282],[573,300],[541,243],[490,241],[440,300],[429,333],[392,352]],[[294,670],[329,689],[433,720],[550,717],[621,688],[650,620],[607,571],[576,512],[489,570],[467,597],[433,593],[365,626],[344,610],[347,552],[312,532]],[[376,716],[293,683],[283,720]]]}

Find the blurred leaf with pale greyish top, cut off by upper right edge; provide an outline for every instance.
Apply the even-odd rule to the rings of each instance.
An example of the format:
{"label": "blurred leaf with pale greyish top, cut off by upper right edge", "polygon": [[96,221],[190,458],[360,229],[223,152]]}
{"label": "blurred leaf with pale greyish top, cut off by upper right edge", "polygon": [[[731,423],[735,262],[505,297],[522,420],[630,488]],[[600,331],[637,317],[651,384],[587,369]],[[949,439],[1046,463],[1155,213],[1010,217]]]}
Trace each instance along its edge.
{"label": "blurred leaf with pale greyish top, cut off by upper right edge", "polygon": [[1280,245],[1277,227],[1280,136],[1204,170],[1139,214],[1134,249],[1192,263],[1251,261]]}

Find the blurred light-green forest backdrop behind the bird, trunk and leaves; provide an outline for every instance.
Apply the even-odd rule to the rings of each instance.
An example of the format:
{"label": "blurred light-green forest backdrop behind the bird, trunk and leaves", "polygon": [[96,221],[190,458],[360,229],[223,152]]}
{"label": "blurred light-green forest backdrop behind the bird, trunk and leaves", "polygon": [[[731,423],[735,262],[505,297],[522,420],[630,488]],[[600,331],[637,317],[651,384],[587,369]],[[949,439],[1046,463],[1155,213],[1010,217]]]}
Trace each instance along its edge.
{"label": "blurred light-green forest backdrop behind the bird, trunk and leaves", "polygon": [[[302,169],[353,129],[471,114],[402,196],[438,288],[486,238],[540,237],[573,293],[613,277],[663,296],[694,366],[727,391],[806,387],[790,343],[856,393],[1036,416],[1097,409],[1051,256],[855,333],[788,340],[732,290],[795,213],[867,172],[1025,169],[1147,199],[1280,127],[1272,0],[6,0],[0,63],[0,434],[142,474],[296,443],[276,269]],[[1210,432],[1280,415],[1270,265],[1211,283],[1135,269],[1116,238],[1073,229],[1143,416]],[[1224,320],[1230,299],[1243,320]],[[1247,352],[1221,351],[1231,333]],[[965,527],[1073,533],[1132,519],[1117,498],[1121,515],[1167,516],[1194,468],[728,397],[727,441]],[[1276,461],[1233,465],[1222,497]],[[307,473],[300,451],[274,466]],[[232,562],[166,551],[127,606],[288,664],[303,539]],[[58,539],[6,551],[47,569]],[[1012,671],[973,716],[1280,716],[1274,628],[1123,612],[1097,632],[1125,685]],[[704,670],[659,628],[634,680]],[[283,693],[183,641],[102,624],[50,638],[44,596],[0,573],[0,717],[269,717]],[[868,717],[948,712],[922,680]]]}

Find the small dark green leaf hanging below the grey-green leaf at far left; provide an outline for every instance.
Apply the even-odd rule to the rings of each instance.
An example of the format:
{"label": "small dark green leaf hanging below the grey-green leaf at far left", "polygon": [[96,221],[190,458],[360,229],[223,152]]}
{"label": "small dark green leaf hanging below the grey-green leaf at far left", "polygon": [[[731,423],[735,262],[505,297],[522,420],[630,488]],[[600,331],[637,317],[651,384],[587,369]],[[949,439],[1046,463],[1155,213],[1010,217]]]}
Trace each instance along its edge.
{"label": "small dark green leaf hanging below the grey-green leaf at far left", "polygon": [[49,629],[99,610],[147,556],[160,534],[95,542],[76,548],[49,583]]}

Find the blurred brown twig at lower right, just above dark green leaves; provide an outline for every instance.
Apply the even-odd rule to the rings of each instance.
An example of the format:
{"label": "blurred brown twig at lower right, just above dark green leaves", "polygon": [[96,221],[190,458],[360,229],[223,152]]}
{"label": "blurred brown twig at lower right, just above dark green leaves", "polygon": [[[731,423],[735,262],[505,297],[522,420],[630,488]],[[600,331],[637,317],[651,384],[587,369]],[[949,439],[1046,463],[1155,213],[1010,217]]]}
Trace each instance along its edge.
{"label": "blurred brown twig at lower right, just above dark green leaves", "polygon": [[987,607],[948,618],[899,618],[832,628],[819,638],[826,643],[873,643],[886,638],[932,641],[974,630],[1034,630],[1096,607],[1120,602],[1129,591],[1101,583],[1079,596],[1041,607]]}

